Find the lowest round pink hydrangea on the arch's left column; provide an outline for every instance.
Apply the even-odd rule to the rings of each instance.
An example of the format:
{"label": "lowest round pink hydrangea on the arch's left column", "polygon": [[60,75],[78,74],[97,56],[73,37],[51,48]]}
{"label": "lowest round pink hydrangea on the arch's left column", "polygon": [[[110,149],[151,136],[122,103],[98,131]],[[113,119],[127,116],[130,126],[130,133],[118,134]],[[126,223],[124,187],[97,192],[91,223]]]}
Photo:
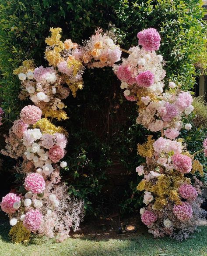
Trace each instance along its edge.
{"label": "lowest round pink hydrangea on the arch's left column", "polygon": [[39,230],[42,223],[42,213],[39,210],[29,210],[25,214],[25,219],[23,220],[23,225],[32,232]]}

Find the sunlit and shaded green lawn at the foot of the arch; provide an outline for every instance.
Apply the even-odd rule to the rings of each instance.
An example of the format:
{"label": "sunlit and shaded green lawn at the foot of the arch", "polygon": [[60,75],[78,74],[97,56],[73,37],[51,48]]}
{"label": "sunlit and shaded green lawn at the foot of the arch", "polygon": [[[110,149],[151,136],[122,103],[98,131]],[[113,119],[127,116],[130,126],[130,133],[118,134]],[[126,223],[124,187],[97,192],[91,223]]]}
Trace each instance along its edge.
{"label": "sunlit and shaded green lawn at the foot of the arch", "polygon": [[200,232],[184,242],[140,234],[108,240],[69,238],[63,243],[35,238],[28,245],[12,244],[8,230],[8,224],[1,222],[0,256],[207,256],[207,227],[200,227]]}

